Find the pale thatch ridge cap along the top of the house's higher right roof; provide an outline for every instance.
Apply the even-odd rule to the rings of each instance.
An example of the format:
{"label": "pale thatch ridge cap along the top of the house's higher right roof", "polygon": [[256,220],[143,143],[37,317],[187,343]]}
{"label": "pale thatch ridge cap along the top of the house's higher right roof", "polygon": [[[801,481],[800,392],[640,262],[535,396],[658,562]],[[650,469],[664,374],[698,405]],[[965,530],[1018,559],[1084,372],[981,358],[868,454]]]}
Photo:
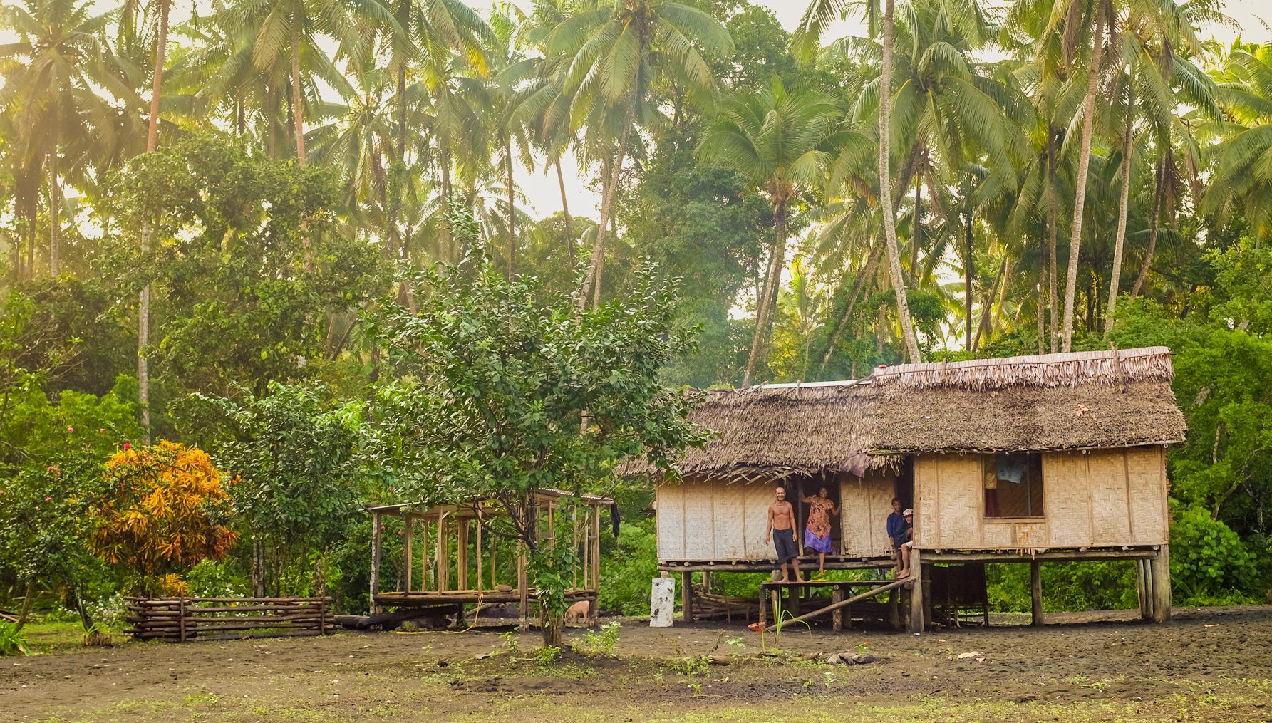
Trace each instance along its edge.
{"label": "pale thatch ridge cap along the top of the house's higher right roof", "polygon": [[949,363],[906,363],[879,367],[870,379],[887,388],[953,388],[979,391],[1013,386],[1054,388],[1080,384],[1126,385],[1132,381],[1169,382],[1173,377],[1170,349],[1145,347]]}

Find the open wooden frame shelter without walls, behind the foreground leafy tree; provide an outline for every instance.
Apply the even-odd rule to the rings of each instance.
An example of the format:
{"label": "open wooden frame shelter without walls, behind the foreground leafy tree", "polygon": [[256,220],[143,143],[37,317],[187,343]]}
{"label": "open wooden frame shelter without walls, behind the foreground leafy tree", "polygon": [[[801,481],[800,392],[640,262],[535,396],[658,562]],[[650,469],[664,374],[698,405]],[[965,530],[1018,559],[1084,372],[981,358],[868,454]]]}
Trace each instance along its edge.
{"label": "open wooden frame shelter without walls, behind the foreground leafy tree", "polygon": [[[572,492],[561,489],[536,489],[534,513],[541,544],[572,544],[577,548],[579,564],[574,569],[566,598],[591,601],[588,620],[591,624],[600,590],[600,516],[614,502],[595,494],[577,496],[583,520],[570,525],[570,532],[562,532],[570,535],[565,540],[558,537],[555,529],[555,512],[572,497]],[[422,512],[411,511],[408,504],[384,504],[366,510],[371,513],[373,524],[373,614],[383,607],[411,607],[421,612],[453,615],[463,612],[467,605],[515,602],[523,623],[530,616],[532,604],[538,596],[527,579],[524,546],[518,545],[511,559],[501,559],[500,548],[509,554],[506,540],[502,545],[495,544],[496,540],[488,531],[492,520],[508,515],[497,501],[473,498],[462,504],[441,504]],[[383,559],[380,532],[385,516],[403,520],[402,569],[397,576],[402,590],[391,592],[379,588]]]}

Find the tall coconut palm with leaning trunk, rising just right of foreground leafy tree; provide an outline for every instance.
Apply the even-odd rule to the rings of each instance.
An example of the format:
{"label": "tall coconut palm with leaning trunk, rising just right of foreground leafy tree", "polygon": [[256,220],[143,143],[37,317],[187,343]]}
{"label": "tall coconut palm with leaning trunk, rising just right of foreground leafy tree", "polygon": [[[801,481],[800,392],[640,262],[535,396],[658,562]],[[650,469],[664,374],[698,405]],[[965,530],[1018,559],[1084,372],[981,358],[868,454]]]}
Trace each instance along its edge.
{"label": "tall coconut palm with leaning trunk, rising just right of foreground leafy tree", "polygon": [[580,307],[591,288],[597,291],[594,304],[599,304],[600,262],[614,189],[636,125],[656,113],[651,85],[659,76],[674,76],[691,91],[709,94],[715,79],[702,53],[730,48],[729,33],[715,18],[672,0],[611,0],[575,13],[553,28],[548,50],[566,58],[562,88],[572,99],[571,127],[590,121],[589,130],[603,130],[603,137],[617,140],[604,164],[600,220],[579,294]]}

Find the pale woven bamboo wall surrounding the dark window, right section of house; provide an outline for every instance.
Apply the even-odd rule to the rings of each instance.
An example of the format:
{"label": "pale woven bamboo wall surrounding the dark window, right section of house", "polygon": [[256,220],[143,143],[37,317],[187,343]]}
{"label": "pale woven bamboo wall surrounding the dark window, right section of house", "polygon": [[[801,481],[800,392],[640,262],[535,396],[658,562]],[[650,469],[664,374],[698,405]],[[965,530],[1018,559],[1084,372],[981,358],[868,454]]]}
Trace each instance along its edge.
{"label": "pale woven bamboo wall surrounding the dark window, right section of house", "polygon": [[1158,545],[1168,541],[1160,446],[1043,455],[1043,517],[985,517],[981,455],[915,463],[915,540],[925,549]]}

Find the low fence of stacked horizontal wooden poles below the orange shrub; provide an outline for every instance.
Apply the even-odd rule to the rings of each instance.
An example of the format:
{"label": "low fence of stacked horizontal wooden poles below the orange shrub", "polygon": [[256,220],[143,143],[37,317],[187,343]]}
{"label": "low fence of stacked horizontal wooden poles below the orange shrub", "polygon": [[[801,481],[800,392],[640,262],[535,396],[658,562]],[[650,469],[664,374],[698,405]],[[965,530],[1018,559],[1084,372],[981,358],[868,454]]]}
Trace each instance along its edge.
{"label": "low fence of stacked horizontal wooden poles below the orange shrub", "polygon": [[326,635],[329,597],[128,597],[125,633],[140,640]]}

